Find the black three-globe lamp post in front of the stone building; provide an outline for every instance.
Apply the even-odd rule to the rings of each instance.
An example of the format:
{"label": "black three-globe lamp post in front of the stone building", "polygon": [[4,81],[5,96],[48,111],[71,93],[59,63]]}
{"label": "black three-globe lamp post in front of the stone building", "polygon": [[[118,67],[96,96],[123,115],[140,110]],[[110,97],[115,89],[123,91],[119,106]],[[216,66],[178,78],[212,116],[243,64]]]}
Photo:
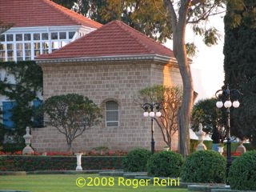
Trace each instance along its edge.
{"label": "black three-globe lamp post in front of the stone building", "polygon": [[[160,110],[160,103],[155,102],[155,103],[149,103],[146,102],[142,108],[144,109],[143,116],[145,118],[150,117],[151,118],[151,154],[154,154],[154,116],[157,116],[158,118],[161,116]],[[157,112],[154,112],[157,110]]]}

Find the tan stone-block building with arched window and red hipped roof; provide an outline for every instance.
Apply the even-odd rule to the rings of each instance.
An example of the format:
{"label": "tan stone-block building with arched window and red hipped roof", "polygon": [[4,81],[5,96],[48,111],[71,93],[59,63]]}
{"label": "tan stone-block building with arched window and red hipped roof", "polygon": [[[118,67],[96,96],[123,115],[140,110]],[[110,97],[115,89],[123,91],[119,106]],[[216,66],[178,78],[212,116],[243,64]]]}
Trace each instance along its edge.
{"label": "tan stone-block building with arched window and red hipped roof", "polygon": [[[173,52],[120,21],[40,55],[36,62],[43,70],[44,99],[76,93],[102,107],[102,123],[76,138],[74,151],[97,146],[150,149],[150,118],[143,117],[134,95],[155,84],[182,86]],[[38,151],[66,150],[64,135],[53,127],[34,128],[32,134],[32,146]],[[156,150],[166,146],[156,126],[154,139]],[[174,134],[173,150],[177,142],[178,134]]]}

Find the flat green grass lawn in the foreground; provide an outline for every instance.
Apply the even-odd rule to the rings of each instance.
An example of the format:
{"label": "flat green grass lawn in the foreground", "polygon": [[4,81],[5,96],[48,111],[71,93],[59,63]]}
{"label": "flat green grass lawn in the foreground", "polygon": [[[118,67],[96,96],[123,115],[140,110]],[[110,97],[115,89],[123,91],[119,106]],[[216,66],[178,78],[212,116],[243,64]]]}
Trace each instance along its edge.
{"label": "flat green grass lawn in the foreground", "polygon": [[[85,186],[79,187],[76,183],[78,185],[85,184]],[[126,186],[123,186],[123,184]],[[98,176],[98,174],[1,175],[0,190],[27,190],[30,192],[187,191],[181,188],[167,188],[166,186],[146,184],[146,182],[136,183],[132,179],[127,181],[118,177]]]}

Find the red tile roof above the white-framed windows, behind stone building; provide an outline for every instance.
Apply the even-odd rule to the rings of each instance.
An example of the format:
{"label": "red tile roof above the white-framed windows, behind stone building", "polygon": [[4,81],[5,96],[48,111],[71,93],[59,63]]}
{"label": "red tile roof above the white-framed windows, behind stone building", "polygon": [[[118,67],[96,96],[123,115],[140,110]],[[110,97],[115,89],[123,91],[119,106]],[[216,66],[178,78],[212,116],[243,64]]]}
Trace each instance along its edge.
{"label": "red tile roof above the white-framed windows, behind stone building", "polygon": [[15,27],[102,26],[50,0],[0,0],[0,21]]}

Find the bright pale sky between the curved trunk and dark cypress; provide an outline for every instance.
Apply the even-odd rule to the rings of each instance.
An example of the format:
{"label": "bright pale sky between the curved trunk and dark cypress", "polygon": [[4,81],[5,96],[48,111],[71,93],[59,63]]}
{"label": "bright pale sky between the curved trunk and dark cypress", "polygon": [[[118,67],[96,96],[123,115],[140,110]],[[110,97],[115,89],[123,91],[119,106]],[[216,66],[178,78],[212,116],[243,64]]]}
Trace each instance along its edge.
{"label": "bright pale sky between the curved trunk and dark cypress", "polygon": [[[194,81],[194,90],[198,93],[199,99],[212,98],[217,90],[220,90],[224,81],[224,23],[223,15],[216,15],[210,18],[210,24],[214,26],[221,37],[218,45],[206,46],[202,42],[202,37],[195,36],[190,26],[186,28],[186,42],[194,42],[198,47],[198,52],[194,56],[191,64],[191,71]],[[171,41],[167,41],[165,46],[172,50]]]}

